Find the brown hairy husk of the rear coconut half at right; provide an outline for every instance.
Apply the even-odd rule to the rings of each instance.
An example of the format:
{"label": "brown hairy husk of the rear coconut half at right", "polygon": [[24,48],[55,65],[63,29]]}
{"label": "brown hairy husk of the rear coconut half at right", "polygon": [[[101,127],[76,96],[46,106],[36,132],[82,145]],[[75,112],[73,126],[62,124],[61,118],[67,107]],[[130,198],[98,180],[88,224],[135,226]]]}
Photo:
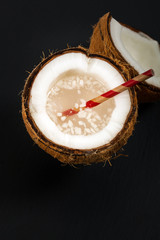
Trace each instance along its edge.
{"label": "brown hairy husk of the rear coconut half at right", "polygon": [[[91,54],[100,54],[106,56],[121,66],[121,71],[127,72],[127,78],[133,78],[139,73],[131,66],[115,47],[110,31],[111,14],[108,12],[102,16],[94,26],[93,34],[90,40],[89,52]],[[132,31],[142,32],[126,24],[121,23]],[[147,82],[142,82],[136,86],[138,102],[153,102],[160,100],[160,88],[155,87]]]}

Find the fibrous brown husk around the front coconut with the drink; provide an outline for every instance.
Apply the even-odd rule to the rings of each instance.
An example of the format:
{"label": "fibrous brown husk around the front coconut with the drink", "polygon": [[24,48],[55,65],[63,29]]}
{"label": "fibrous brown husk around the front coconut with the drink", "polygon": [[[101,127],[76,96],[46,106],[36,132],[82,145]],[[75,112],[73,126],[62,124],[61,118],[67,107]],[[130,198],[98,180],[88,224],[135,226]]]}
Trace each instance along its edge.
{"label": "fibrous brown husk around the front coconut with the drink", "polygon": [[131,109],[128,114],[128,117],[125,121],[124,127],[122,130],[117,134],[117,136],[108,144],[103,145],[101,147],[93,148],[93,149],[72,149],[65,146],[57,145],[56,143],[47,139],[47,137],[38,129],[36,123],[34,122],[30,110],[29,110],[29,101],[30,101],[30,90],[32,88],[32,84],[34,82],[35,77],[41,71],[41,69],[49,63],[51,60],[55,59],[56,57],[70,53],[70,52],[81,52],[89,57],[99,58],[104,61],[109,62],[113,67],[115,67],[120,74],[122,75],[123,79],[127,80],[127,73],[121,72],[121,67],[117,65],[113,60],[104,58],[102,56],[96,54],[89,54],[87,50],[84,48],[71,48],[65,49],[62,51],[58,51],[54,54],[51,54],[46,59],[43,59],[41,63],[29,74],[23,94],[22,94],[22,117],[26,126],[28,133],[30,134],[31,138],[34,140],[36,144],[44,151],[49,153],[54,158],[57,158],[59,161],[67,164],[91,164],[97,162],[106,162],[110,161],[112,157],[115,157],[116,153],[127,143],[128,138],[131,136],[134,125],[137,118],[137,96],[136,91],[133,88],[129,89],[129,94],[131,98]]}

